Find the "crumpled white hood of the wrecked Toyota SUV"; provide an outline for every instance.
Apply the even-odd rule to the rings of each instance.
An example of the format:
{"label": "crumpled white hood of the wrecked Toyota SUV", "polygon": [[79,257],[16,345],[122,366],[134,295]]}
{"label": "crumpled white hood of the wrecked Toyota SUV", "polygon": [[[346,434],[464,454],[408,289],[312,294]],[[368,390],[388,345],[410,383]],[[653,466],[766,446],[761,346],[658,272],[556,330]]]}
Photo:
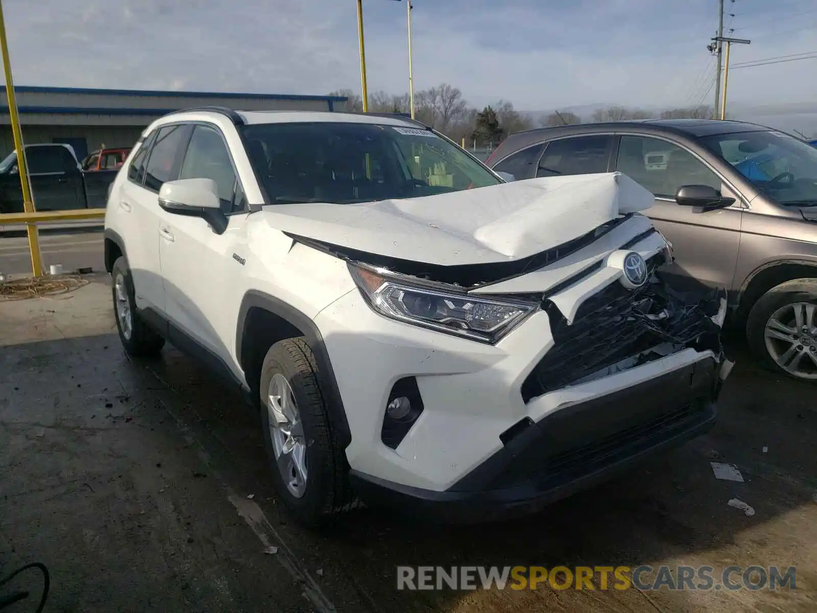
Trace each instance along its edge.
{"label": "crumpled white hood of the wrecked Toyota SUV", "polygon": [[545,177],[363,204],[275,204],[270,226],[320,242],[441,266],[511,262],[565,244],[654,196],[620,172]]}

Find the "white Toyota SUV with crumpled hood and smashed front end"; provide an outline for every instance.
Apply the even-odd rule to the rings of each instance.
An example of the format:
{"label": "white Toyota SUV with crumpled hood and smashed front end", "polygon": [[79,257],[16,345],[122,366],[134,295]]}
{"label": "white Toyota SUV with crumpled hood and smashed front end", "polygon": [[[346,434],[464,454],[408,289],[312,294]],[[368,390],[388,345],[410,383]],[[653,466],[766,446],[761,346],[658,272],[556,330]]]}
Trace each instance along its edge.
{"label": "white Toyota SUV with crumpled hood and smashed front end", "polygon": [[444,520],[530,512],[711,427],[724,294],[618,173],[505,183],[373,114],[207,107],[150,125],[114,182],[123,346],[174,346],[261,409],[275,485]]}

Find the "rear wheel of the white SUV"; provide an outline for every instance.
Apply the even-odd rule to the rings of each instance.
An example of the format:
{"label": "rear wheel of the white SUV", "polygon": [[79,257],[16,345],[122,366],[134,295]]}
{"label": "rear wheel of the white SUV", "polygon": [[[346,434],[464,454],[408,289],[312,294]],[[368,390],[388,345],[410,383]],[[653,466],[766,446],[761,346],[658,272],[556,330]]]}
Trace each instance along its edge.
{"label": "rear wheel of the white SUV", "polygon": [[119,340],[130,356],[155,356],[164,347],[164,338],[150,329],[136,312],[131,269],[124,256],[117,258],[110,271],[111,293]]}

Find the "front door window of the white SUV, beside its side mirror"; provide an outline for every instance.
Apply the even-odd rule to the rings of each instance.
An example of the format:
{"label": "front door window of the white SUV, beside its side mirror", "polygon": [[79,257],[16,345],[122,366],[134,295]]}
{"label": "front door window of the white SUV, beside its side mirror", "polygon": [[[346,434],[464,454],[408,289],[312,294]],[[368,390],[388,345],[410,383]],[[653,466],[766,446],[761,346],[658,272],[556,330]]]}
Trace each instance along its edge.
{"label": "front door window of the white SUV, beside its side mirror", "polygon": [[[196,126],[190,145],[187,146],[185,161],[181,164],[180,179],[212,179],[218,186],[221,211],[233,210],[233,195],[236,187],[235,171],[230,162],[230,154],[221,133],[206,126]],[[237,199],[236,199],[237,201]],[[236,208],[236,210],[240,210]]]}

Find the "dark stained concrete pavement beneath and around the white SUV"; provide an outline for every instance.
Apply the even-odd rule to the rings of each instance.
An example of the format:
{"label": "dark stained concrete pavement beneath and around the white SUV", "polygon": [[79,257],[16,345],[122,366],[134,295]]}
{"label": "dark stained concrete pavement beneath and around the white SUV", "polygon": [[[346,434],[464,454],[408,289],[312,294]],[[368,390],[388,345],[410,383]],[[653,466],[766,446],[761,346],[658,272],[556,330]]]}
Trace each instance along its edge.
{"label": "dark stained concrete pavement beneath and around the white SUV", "polygon": [[[0,302],[0,575],[45,562],[47,611],[817,610],[815,388],[739,349],[708,436],[534,517],[438,527],[363,509],[309,532],[279,508],[257,416],[172,347],[128,359],[109,280],[91,279]],[[395,588],[398,565],[519,564],[796,564],[797,589]]]}

